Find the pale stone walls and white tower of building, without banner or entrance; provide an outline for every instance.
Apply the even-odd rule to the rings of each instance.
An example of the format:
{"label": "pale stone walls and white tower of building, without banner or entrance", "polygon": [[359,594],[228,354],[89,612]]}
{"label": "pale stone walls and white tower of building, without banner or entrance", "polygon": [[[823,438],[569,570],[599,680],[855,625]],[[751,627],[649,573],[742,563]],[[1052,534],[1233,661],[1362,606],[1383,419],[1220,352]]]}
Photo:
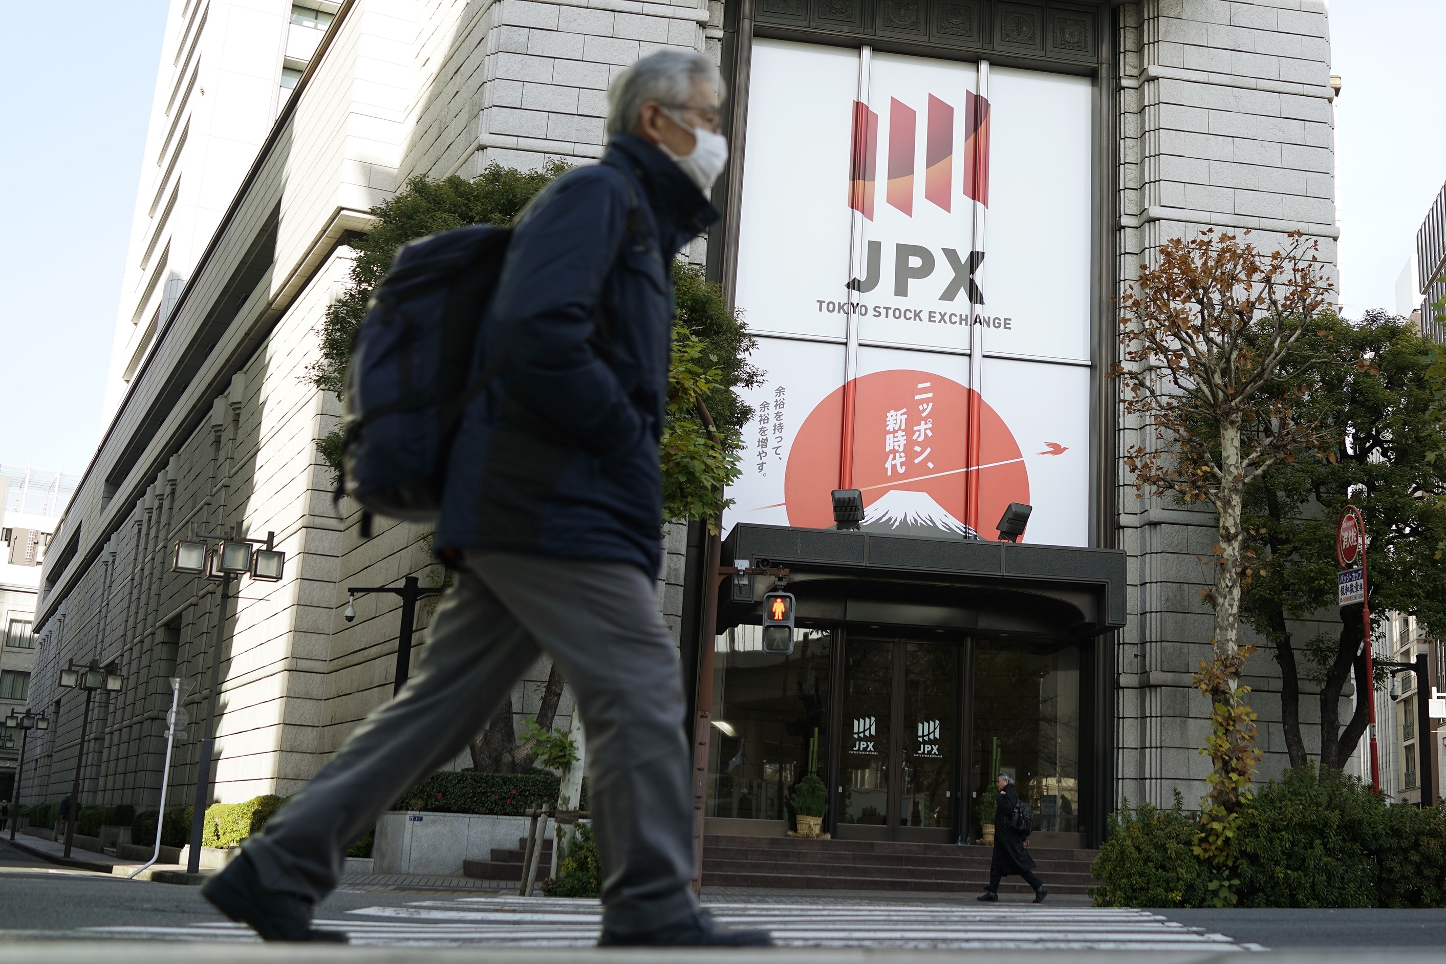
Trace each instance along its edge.
{"label": "pale stone walls and white tower of building, without banner or entrance", "polygon": [[[33,779],[26,778],[23,799],[58,799],[84,750],[82,802],[153,805],[171,676],[194,684],[172,804],[191,801],[200,741],[210,733],[214,799],[291,793],[390,695],[398,603],[359,597],[357,619],[348,623],[341,614],[346,587],[395,584],[406,575],[435,585],[444,574],[419,526],[379,525],[363,539],[356,506],[333,503],[330,471],[315,449],[340,408],[305,374],[322,312],[346,283],[350,233],[367,230],[369,208],[412,176],[474,176],[493,162],[596,160],[609,82],[656,49],[707,52],[723,66],[730,101],[746,103],[755,33],[870,43],[962,64],[988,56],[1092,84],[1096,337],[1087,545],[1121,548],[1128,559],[1128,626],[1105,636],[1090,656],[1105,681],[1099,713],[1108,720],[1098,779],[1108,799],[1168,804],[1173,789],[1187,802],[1199,799],[1206,763],[1196,749],[1206,721],[1189,684],[1209,639],[1196,590],[1207,578],[1200,558],[1213,542],[1212,519],[1139,499],[1124,475],[1118,451],[1138,429],[1121,422],[1099,376],[1115,344],[1108,305],[1158,244],[1202,227],[1249,228],[1261,244],[1299,230],[1317,238],[1322,259],[1333,263],[1333,92],[1323,0],[847,0],[857,13],[850,23],[872,30],[866,40],[849,40],[855,27],[827,38],[816,29],[817,17],[808,17],[826,16],[833,7],[818,4],[831,0],[814,0],[814,14],[801,0],[211,0],[200,16],[194,1],[172,3],[146,150],[165,155],[171,127],[188,124],[176,110],[191,111],[195,130],[202,120],[220,129],[233,107],[253,119],[269,110],[275,120],[260,124],[254,147],[233,147],[226,165],[182,153],[179,162],[156,165],[159,172],[146,168],[133,241],[139,251],[162,234],[149,208],[153,181],[174,176],[165,173],[168,165],[185,166],[187,185],[202,173],[208,185],[224,184],[226,199],[194,220],[202,227],[188,243],[191,254],[171,262],[175,277],[166,283],[174,291],[166,289],[169,301],[158,308],[155,332],[139,354],[136,309],[123,305],[116,357],[126,363],[117,361],[119,370],[130,356],[137,363],[116,382],[114,418],[46,558],[30,705],[51,708],[58,726],[45,746],[32,747]],[[943,17],[937,25],[944,33],[914,40],[904,29],[868,26],[875,14],[885,17],[881,25],[920,20],[925,7]],[[963,23],[954,7],[982,12],[970,23],[992,25],[992,32],[949,48],[940,36],[954,38],[950,43],[963,36],[949,33]],[[759,26],[768,17],[782,26]],[[787,26],[788,17],[800,26]],[[239,87],[226,106],[210,107],[228,81],[211,74],[220,71],[220,55],[202,58],[198,79],[184,82],[213,94],[171,106],[171,55],[182,42],[197,43],[195,36],[198,49],[228,42],[228,35],[213,35],[223,22],[259,25],[249,35],[250,59],[237,53],[226,62],[246,61],[237,77],[269,82],[257,81],[249,92]],[[1061,33],[1048,48],[1024,33],[998,33],[1015,23],[1041,33],[1048,23]],[[302,35],[305,58],[294,39],[301,30],[312,32]],[[1089,43],[1070,52],[1080,36]],[[1067,55],[1056,56],[1057,49]],[[735,147],[746,156],[739,123]],[[184,150],[197,143],[192,133]],[[240,155],[247,163],[236,162]],[[179,192],[182,201],[188,189]],[[714,201],[724,223],[685,253],[730,295],[737,191],[720,184]],[[126,283],[145,289],[149,282],[127,275]],[[273,533],[286,554],[285,575],[279,582],[241,578],[223,601],[221,582],[171,572],[174,542],[188,533],[213,542]],[[690,634],[694,646],[697,637],[701,541],[694,530],[690,542],[683,526],[664,535],[659,606],[687,650]],[[427,619],[424,606],[419,629]],[[1316,629],[1299,632],[1309,637]],[[93,737],[78,747],[81,698],[56,689],[55,676],[68,660],[93,658],[119,660],[126,685],[117,697],[97,700]],[[685,665],[690,659],[684,652]],[[545,671],[541,665],[519,684],[519,714],[535,707]],[[1277,673],[1267,652],[1251,671],[1271,775],[1284,766]],[[560,726],[570,711],[564,700]],[[1310,700],[1303,713],[1309,730]],[[1307,733],[1307,744],[1312,739]]]}

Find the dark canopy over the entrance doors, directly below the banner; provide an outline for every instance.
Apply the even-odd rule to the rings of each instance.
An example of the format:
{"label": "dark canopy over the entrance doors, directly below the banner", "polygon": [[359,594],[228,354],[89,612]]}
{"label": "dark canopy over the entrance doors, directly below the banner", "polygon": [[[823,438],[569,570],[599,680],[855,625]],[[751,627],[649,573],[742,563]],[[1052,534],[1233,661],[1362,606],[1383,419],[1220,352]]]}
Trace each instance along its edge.
{"label": "dark canopy over the entrance doors, directly below the banner", "polygon": [[[868,623],[1005,639],[1125,626],[1125,552],[737,523],[723,564],[784,567],[800,624]],[[719,632],[756,621],[766,575],[720,587]]]}

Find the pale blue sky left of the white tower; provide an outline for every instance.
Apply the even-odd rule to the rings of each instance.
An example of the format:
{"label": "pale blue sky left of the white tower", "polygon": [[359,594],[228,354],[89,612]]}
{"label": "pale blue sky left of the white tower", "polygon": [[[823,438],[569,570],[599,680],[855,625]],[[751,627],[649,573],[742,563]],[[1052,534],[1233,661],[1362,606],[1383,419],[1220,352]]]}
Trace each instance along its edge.
{"label": "pale blue sky left of the white tower", "polygon": [[98,441],[165,0],[0,0],[0,461]]}

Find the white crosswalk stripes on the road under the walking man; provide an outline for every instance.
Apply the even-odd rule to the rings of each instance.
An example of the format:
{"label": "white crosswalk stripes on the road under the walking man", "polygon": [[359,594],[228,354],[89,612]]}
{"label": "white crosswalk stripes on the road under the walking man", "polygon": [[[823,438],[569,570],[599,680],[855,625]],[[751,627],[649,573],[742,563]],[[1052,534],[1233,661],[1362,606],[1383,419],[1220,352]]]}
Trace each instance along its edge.
{"label": "white crosswalk stripes on the road under the walking man", "polygon": [[[1119,908],[1034,908],[950,905],[710,903],[726,926],[766,928],[782,947],[894,947],[1040,951],[1245,951],[1203,928],[1189,928],[1150,913]],[[393,947],[586,947],[597,941],[602,909],[596,900],[536,898],[460,898],[416,900],[405,906],[348,911],[318,919],[318,928],[346,931],[353,944]],[[230,922],[187,926],[82,928],[87,937],[146,939],[253,941],[249,928]]]}

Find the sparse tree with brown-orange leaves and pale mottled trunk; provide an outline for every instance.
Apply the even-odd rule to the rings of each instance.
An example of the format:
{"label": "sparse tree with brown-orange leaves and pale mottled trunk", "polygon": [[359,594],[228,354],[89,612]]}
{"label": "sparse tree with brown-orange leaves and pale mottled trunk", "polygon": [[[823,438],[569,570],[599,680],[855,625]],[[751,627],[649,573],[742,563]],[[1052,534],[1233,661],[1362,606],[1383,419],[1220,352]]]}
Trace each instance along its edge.
{"label": "sparse tree with brown-orange leaves and pale mottled trunk", "polygon": [[[1296,393],[1272,390],[1314,361],[1300,338],[1330,288],[1314,250],[1297,233],[1284,251],[1264,254],[1210,228],[1163,244],[1121,298],[1124,363],[1115,374],[1125,412],[1147,434],[1126,449],[1125,465],[1137,489],[1203,502],[1216,513],[1215,585],[1202,594],[1215,610],[1213,660],[1202,660],[1196,684],[1213,723],[1202,750],[1213,763],[1206,809],[1220,819],[1239,808],[1259,759],[1255,714],[1239,682],[1251,653],[1239,640],[1241,588],[1254,569],[1245,489],[1275,461],[1312,451],[1317,438]],[[1228,847],[1229,837],[1225,825],[1210,840]]]}

